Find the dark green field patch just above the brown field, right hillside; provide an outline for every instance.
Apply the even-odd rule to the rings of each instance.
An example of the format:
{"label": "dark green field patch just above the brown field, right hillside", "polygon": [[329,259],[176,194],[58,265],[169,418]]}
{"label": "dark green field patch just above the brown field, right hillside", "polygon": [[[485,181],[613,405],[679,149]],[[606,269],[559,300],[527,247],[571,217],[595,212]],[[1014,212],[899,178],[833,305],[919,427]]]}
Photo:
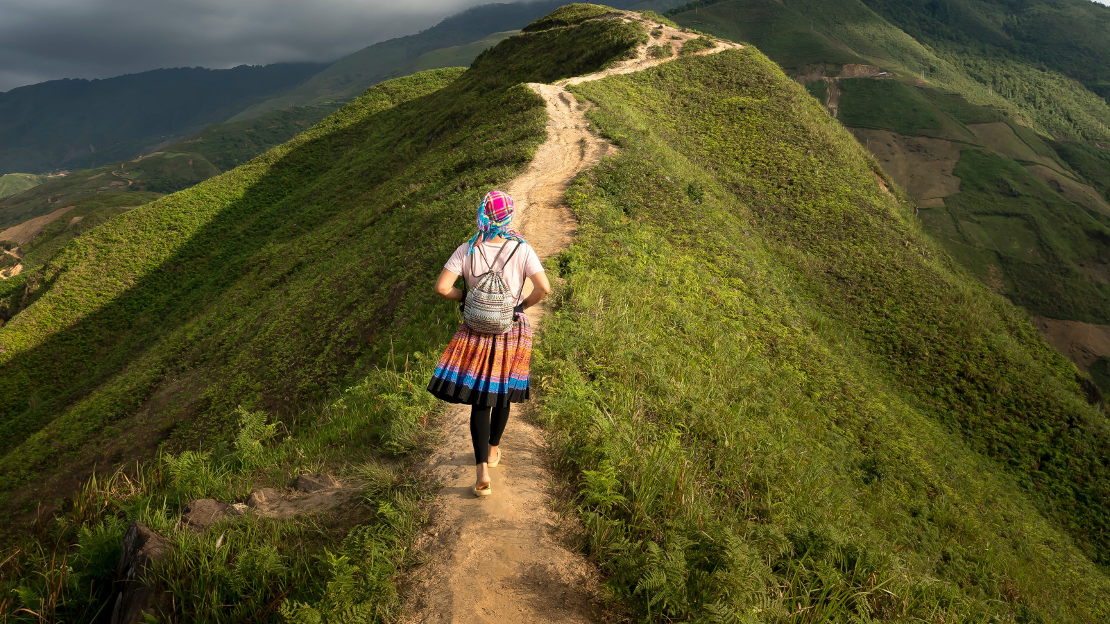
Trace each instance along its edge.
{"label": "dark green field patch just above the brown field, right hillside", "polygon": [[839,118],[845,125],[880,128],[902,134],[941,128],[920,90],[895,80],[841,80]]}

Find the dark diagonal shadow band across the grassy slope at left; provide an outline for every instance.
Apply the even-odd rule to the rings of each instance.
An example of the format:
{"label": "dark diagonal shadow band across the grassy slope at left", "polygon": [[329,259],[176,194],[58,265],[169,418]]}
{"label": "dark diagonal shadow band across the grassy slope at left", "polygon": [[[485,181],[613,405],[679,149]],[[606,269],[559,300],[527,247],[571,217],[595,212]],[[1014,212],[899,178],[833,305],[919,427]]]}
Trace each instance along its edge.
{"label": "dark diagonal shadow band across the grassy slope at left", "polygon": [[[49,442],[51,450],[36,453],[50,460],[19,467],[37,471],[57,464],[61,453],[73,452],[83,442],[81,432],[97,431],[133,414],[159,383],[178,370],[198,365],[215,369],[226,364],[229,354],[250,341],[251,328],[219,328],[225,319],[210,320],[206,340],[211,341],[216,333],[211,329],[213,323],[223,330],[225,342],[220,343],[221,349],[216,352],[195,352],[192,336],[173,334],[234,291],[244,276],[264,274],[268,266],[256,262],[264,248],[304,238],[337,214],[355,209],[367,193],[387,181],[391,173],[420,158],[426,151],[424,141],[417,143],[420,149],[413,149],[407,141],[397,140],[396,131],[389,135],[381,132],[379,129],[384,124],[374,121],[382,115],[396,115],[403,109],[426,105],[423,102],[428,97],[371,114],[341,131],[295,147],[274,162],[240,199],[218,208],[214,217],[158,269],[144,274],[99,310],[52,334],[34,349],[13,356],[6,366],[4,380],[0,381],[0,452],[11,453],[119,373],[148,365],[142,359],[151,350],[163,353],[151,358],[150,370],[140,375],[147,378],[140,384],[142,390],[98,399],[101,403],[91,407],[90,415],[83,416],[84,422],[67,429],[77,432],[72,434],[74,440],[52,440]],[[329,185],[329,181],[319,185],[325,177],[343,183]],[[218,179],[210,183],[219,182]],[[170,201],[176,201],[182,207],[183,219],[188,219],[190,213],[199,212],[188,210],[189,203],[205,200],[214,201],[203,191],[193,190],[183,191],[176,200]],[[379,218],[381,214],[371,217]],[[153,249],[158,241],[148,240],[143,244]],[[311,255],[311,250],[306,255]],[[304,262],[285,263],[281,274],[268,275],[270,279],[264,285],[252,282],[258,284],[252,288],[260,291],[280,288],[304,265]],[[393,291],[395,284],[387,283],[389,279],[385,276],[386,283],[379,285]],[[53,285],[46,286],[50,288]],[[79,292],[68,294],[80,296]],[[239,295],[250,298],[251,293],[240,292]],[[173,336],[172,342],[167,342],[170,336]],[[311,350],[316,345],[300,346]],[[344,362],[346,366],[350,364],[350,360]],[[208,406],[198,404],[193,413],[201,413]],[[8,483],[6,489],[18,485]]]}

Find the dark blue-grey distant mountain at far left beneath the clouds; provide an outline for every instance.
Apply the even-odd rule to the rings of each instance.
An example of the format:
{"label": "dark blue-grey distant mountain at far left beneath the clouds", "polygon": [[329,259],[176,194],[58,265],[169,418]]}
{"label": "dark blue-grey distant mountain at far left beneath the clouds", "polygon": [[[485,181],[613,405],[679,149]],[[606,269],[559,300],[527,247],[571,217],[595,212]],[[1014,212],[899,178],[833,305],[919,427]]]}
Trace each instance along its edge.
{"label": "dark blue-grey distant mountain at far left beneath the clouds", "polygon": [[0,173],[85,169],[225,121],[302,82],[317,63],[160,69],[0,93]]}

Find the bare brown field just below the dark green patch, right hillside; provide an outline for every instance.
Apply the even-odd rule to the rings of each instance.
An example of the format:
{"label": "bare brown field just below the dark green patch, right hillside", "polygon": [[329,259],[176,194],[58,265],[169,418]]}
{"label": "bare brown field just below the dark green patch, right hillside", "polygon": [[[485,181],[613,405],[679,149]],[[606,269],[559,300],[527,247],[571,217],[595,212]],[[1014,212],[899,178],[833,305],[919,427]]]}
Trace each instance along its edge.
{"label": "bare brown field just below the dark green patch, right hillside", "polygon": [[960,160],[959,143],[887,130],[848,130],[875,154],[887,175],[914,197],[919,208],[941,208],[944,198],[960,191],[960,179],[952,174]]}

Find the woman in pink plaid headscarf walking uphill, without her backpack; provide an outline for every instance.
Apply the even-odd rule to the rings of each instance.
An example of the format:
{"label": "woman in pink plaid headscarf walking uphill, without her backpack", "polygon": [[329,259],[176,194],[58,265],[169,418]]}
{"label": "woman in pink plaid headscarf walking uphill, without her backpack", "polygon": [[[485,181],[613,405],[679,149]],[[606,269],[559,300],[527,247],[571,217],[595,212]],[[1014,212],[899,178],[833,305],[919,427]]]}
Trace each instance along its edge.
{"label": "woman in pink plaid headscarf walking uphill, without her backpack", "polygon": [[[458,245],[435,283],[436,293],[461,302],[460,308],[465,310],[466,292],[455,288],[455,280],[463,275],[473,289],[485,273],[501,271],[515,305],[513,325],[502,334],[478,333],[463,322],[427,386],[438,399],[471,406],[471,441],[477,469],[472,491],[476,496],[493,493],[488,469],[501,463],[498,446],[508,422],[509,403],[521,403],[529,396],[532,328],[524,310],[552,291],[535,250],[509,229],[513,208],[513,198],[507,194],[487,193],[478,207],[477,233]],[[525,278],[532,281],[533,290],[521,301]]]}

